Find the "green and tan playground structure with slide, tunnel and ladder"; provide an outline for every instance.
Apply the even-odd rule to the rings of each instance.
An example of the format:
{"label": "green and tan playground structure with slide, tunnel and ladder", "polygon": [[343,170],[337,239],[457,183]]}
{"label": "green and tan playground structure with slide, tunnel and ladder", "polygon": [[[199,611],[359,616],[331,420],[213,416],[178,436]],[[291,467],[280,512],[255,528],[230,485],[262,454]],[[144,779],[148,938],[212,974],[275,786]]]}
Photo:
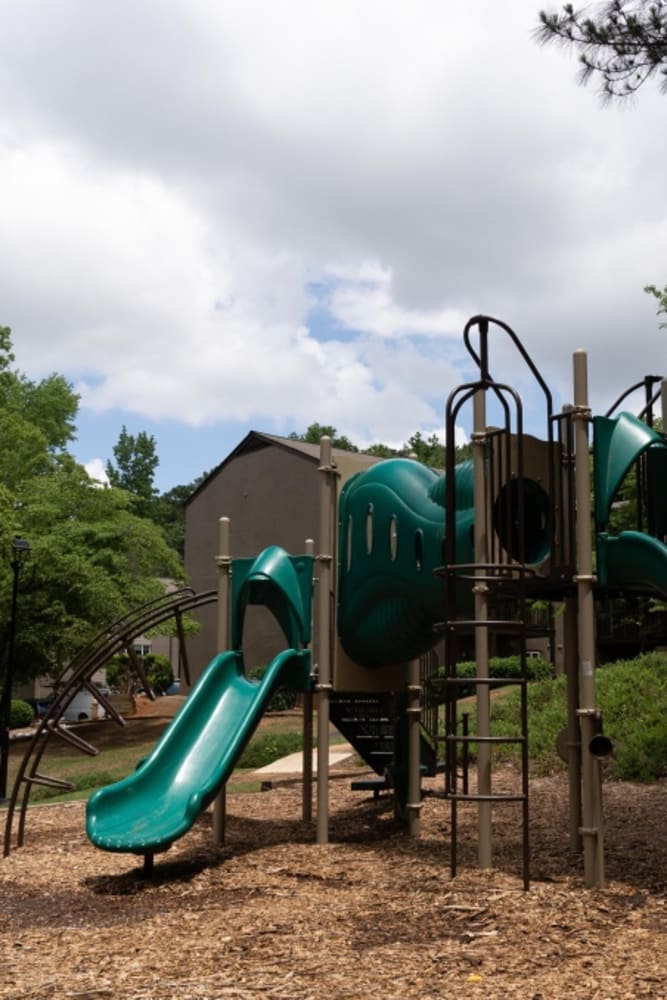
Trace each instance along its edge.
{"label": "green and tan playground structure with slide, tunnel and ladder", "polygon": [[[474,333],[477,344],[472,342]],[[525,433],[521,398],[491,375],[492,336],[507,338],[503,346],[507,348],[509,341],[534,379],[544,403],[543,439]],[[214,800],[215,835],[222,839],[225,782],[272,691],[287,683],[304,692],[306,747],[312,745],[313,695],[317,696],[318,842],[328,839],[333,721],[376,772],[377,782],[394,789],[397,810],[413,836],[419,835],[422,774],[444,774],[451,810],[452,873],[460,803],[472,802],[478,809],[481,867],[492,864],[492,810],[516,803],[522,812],[527,887],[525,664],[527,639],[534,628],[530,605],[540,599],[565,606],[570,846],[583,851],[586,885],[604,883],[600,761],[611,748],[595,700],[594,601],[603,593],[667,594],[667,445],[651,426],[660,395],[662,412],[667,412],[665,382],[647,376],[606,416],[593,419],[586,356],[577,352],[574,403],[555,413],[548,386],[506,324],[474,317],[466,325],[464,342],[478,377],[455,389],[447,400],[444,476],[412,459],[389,459],[363,472],[356,471],[358,467],[353,471],[344,456],[332,462],[330,443],[323,439],[317,555],[307,543],[303,556],[290,556],[273,546],[257,557],[232,560],[230,524],[221,519],[217,600],[222,652],[137,771],[91,796],[87,831],[97,846],[143,855],[150,868],[153,855],[182,836]],[[657,384],[661,387],[656,390]],[[641,419],[629,413],[612,416],[626,396],[641,387],[646,400]],[[456,466],[455,427],[465,406],[472,407],[473,459]],[[491,406],[500,415],[499,426],[487,425]],[[638,484],[637,530],[613,534],[612,505],[633,468]],[[200,600],[214,597],[209,594]],[[285,639],[285,648],[259,683],[246,679],[243,664],[244,617],[251,604],[269,608]],[[489,645],[496,635],[512,637],[524,667],[521,678],[507,679],[521,689],[519,735],[490,735]],[[444,672],[431,655],[443,637]],[[474,737],[462,731],[458,717],[462,679],[457,677],[457,663],[464,641],[474,641],[477,664]],[[88,669],[86,665],[79,670],[79,686],[90,676]],[[437,724],[439,704],[444,705],[444,728]],[[50,728],[57,731],[52,722]],[[467,775],[461,781],[460,771],[461,752],[465,759],[471,742],[477,757],[472,790]],[[493,788],[492,749],[502,742],[521,747],[520,787],[511,794],[495,793]],[[6,853],[17,788],[25,785],[27,803],[31,783],[43,780],[36,767],[24,767],[17,779]],[[304,818],[310,819],[309,753],[304,755],[303,787]],[[25,805],[19,843],[24,814]]]}

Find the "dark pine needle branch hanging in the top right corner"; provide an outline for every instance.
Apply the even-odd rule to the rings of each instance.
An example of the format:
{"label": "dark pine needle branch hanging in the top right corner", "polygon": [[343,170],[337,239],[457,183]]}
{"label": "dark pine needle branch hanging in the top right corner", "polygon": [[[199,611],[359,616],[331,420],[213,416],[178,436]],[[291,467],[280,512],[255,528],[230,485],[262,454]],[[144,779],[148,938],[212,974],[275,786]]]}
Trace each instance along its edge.
{"label": "dark pine needle branch hanging in the top right corner", "polygon": [[582,83],[595,77],[605,100],[635,93],[651,76],[667,93],[667,0],[611,0],[582,10],[541,10],[536,36],[579,53]]}

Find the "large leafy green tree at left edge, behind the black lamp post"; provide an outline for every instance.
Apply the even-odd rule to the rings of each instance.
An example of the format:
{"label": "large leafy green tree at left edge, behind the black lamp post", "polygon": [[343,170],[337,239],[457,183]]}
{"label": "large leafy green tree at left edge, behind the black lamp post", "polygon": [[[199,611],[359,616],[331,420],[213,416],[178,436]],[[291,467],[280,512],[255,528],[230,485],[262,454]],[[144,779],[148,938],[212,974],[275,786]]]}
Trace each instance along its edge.
{"label": "large leafy green tree at left edge, behind the black lamp post", "polygon": [[[32,382],[0,328],[0,677],[11,609],[11,539],[31,546],[19,577],[16,677],[59,675],[101,628],[162,593],[182,564],[131,496],[101,487],[67,452],[78,397],[60,375]],[[3,558],[3,553],[5,557]]]}

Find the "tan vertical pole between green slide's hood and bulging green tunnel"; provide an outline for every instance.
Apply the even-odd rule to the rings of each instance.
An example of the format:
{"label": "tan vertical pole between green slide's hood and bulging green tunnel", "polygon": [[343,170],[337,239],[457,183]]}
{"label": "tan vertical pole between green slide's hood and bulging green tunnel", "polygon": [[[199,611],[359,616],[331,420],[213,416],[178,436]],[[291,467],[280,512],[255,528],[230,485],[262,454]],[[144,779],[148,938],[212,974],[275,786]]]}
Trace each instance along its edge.
{"label": "tan vertical pole between green slide's hood and bulging green tunnel", "polygon": [[333,621],[333,519],[336,483],[331,464],[331,438],[320,441],[320,552],[318,592],[317,674],[317,843],[329,842],[329,699]]}

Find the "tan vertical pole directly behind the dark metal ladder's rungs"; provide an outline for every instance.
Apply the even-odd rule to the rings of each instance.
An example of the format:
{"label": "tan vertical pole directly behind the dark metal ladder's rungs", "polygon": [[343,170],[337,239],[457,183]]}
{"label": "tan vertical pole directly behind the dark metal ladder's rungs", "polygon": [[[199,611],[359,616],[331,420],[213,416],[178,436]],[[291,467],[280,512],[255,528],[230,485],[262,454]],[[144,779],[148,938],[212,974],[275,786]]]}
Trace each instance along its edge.
{"label": "tan vertical pole directly behind the dark metal ladder's rungs", "polygon": [[[475,393],[473,400],[473,476],[475,484],[475,562],[486,563],[488,553],[487,509],[486,509],[486,396],[483,389]],[[484,570],[477,570],[480,575]],[[477,691],[477,734],[488,737],[491,727],[491,692],[486,683],[489,677],[489,617],[488,586],[480,581],[473,586],[475,595],[476,676],[485,683],[476,686]],[[491,795],[491,746],[477,744],[477,793]],[[491,867],[491,803],[478,804],[478,863],[480,868]]]}

